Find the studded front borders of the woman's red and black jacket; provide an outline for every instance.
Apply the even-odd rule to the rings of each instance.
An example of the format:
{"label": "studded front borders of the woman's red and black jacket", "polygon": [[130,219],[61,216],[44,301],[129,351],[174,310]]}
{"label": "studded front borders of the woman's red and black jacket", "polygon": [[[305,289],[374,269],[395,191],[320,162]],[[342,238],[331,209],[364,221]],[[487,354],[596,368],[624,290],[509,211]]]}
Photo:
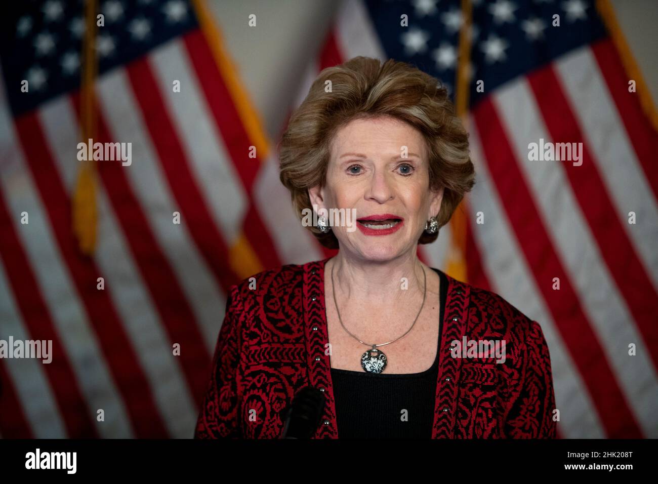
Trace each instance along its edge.
{"label": "studded front borders of the woman's red and black jacket", "polygon": [[[304,335],[309,385],[324,392],[326,404],[315,433],[316,439],[338,439],[336,405],[331,380],[329,355],[324,354],[328,342],[326,308],[324,306],[324,265],[330,257],[305,263],[303,267]],[[466,335],[470,286],[447,276],[448,290],[443,311],[441,354],[436,382],[436,404],[432,438],[452,438],[457,414],[457,379],[461,358],[451,357],[451,342]]]}

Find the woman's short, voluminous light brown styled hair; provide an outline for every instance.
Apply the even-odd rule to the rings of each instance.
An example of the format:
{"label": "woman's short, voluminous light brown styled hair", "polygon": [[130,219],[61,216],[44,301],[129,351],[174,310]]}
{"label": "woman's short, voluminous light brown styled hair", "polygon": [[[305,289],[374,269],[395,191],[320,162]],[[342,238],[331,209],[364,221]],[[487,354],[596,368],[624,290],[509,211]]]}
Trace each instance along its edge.
{"label": "woman's short, voluminous light brown styled hair", "polygon": [[[328,81],[330,92],[325,91]],[[468,133],[447,90],[437,78],[409,63],[389,59],[382,64],[361,56],[318,74],[280,140],[279,177],[290,190],[300,220],[304,209],[313,210],[309,188],[326,184],[330,148],[338,129],[353,119],[380,116],[405,121],[422,134],[429,153],[429,188],[443,187],[439,227],[448,223],[472,188],[475,173],[468,155]],[[326,248],[338,248],[333,230],[324,234],[315,226],[307,229]],[[422,232],[418,243],[429,244],[437,237],[438,231]]]}

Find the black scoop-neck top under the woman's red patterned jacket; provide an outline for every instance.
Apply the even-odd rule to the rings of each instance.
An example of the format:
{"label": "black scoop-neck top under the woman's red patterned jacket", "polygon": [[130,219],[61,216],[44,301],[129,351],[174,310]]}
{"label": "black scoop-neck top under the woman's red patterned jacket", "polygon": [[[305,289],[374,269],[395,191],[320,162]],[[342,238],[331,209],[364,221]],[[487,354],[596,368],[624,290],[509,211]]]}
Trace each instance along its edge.
{"label": "black scoop-neck top under the woman's red patterned jacket", "polygon": [[[331,369],[339,439],[430,439],[436,406],[443,309],[448,281],[439,275],[436,359],[420,373],[368,373]],[[365,347],[364,347],[365,351]],[[402,410],[407,410],[402,419]],[[406,421],[405,421],[406,420]]]}

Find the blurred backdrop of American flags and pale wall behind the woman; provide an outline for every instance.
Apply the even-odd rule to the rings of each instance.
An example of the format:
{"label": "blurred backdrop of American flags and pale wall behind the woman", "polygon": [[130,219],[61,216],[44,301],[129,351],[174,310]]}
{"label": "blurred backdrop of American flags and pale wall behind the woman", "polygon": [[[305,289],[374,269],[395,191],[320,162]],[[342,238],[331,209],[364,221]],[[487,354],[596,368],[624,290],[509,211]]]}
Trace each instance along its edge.
{"label": "blurred backdrop of American flags and pale wall behind the woman", "polygon": [[[655,1],[3,9],[0,340],[51,340],[53,361],[0,358],[1,437],[192,436],[232,284],[335,254],[293,215],[276,143],[355,55],[453,96],[476,186],[418,255],[540,323],[560,437],[658,437]],[[86,161],[89,139],[130,159]],[[582,164],[531,161],[540,140]]]}

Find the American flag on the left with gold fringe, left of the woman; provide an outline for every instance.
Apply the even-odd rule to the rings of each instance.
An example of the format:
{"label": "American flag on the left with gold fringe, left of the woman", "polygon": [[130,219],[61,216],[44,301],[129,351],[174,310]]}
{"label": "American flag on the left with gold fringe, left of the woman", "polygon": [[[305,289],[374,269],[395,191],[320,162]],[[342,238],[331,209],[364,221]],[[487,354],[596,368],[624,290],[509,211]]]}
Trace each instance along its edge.
{"label": "American flag on the left with gold fringe, left of the woman", "polygon": [[84,2],[22,8],[0,47],[0,339],[52,340],[53,362],[0,360],[0,434],[191,437],[230,286],[283,263],[255,194],[266,139],[204,3],[99,2],[93,141],[132,163],[96,163],[82,253]]}

